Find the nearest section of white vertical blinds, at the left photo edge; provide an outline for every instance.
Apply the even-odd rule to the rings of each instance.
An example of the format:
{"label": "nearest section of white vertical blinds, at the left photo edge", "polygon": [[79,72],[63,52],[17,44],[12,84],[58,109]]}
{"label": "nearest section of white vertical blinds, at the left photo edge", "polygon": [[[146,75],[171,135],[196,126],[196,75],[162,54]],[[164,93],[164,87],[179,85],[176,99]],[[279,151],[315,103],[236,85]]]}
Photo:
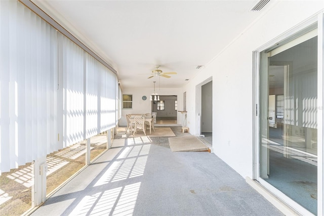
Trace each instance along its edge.
{"label": "nearest section of white vertical blinds, at the left photo edge", "polygon": [[58,32],[16,1],[0,1],[0,172],[55,148]]}

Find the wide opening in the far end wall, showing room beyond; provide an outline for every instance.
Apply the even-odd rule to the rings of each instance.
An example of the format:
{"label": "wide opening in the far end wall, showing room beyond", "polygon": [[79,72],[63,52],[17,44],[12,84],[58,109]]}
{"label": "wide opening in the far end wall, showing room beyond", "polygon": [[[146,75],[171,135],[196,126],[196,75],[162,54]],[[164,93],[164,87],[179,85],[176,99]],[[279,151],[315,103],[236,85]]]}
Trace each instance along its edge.
{"label": "wide opening in the far end wall, showing room beyond", "polygon": [[177,95],[159,95],[151,101],[152,113],[156,113],[156,124],[177,124]]}

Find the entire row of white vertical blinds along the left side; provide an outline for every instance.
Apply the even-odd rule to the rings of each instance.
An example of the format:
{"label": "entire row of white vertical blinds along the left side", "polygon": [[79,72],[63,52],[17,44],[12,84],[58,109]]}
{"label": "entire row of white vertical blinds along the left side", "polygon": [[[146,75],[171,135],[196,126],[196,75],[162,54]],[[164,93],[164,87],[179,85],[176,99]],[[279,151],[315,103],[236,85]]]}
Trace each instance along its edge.
{"label": "entire row of white vertical blinds along the left side", "polygon": [[116,125],[117,78],[17,1],[0,1],[0,174]]}

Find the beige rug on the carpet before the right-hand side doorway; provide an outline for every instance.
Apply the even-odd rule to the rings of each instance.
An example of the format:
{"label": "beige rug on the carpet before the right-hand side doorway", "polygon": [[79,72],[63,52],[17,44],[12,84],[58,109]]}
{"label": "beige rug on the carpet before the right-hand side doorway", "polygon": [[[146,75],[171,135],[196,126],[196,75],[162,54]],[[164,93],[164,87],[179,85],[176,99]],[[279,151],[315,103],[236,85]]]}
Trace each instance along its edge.
{"label": "beige rug on the carpet before the right-hand side doorway", "polygon": [[203,152],[209,149],[195,136],[171,137],[169,143],[172,152]]}

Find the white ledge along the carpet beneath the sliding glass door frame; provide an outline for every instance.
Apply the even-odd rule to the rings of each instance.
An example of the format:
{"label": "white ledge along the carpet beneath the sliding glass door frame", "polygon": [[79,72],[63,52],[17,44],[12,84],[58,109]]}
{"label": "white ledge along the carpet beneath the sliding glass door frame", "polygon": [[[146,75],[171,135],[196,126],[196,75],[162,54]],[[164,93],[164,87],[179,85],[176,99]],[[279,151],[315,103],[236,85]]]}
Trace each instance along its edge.
{"label": "white ledge along the carpet beneath the sliding glass door frame", "polygon": [[286,203],[282,202],[280,199],[274,196],[259,182],[252,180],[250,177],[246,177],[246,182],[285,215],[301,215],[297,211],[292,209],[290,206],[288,206]]}

